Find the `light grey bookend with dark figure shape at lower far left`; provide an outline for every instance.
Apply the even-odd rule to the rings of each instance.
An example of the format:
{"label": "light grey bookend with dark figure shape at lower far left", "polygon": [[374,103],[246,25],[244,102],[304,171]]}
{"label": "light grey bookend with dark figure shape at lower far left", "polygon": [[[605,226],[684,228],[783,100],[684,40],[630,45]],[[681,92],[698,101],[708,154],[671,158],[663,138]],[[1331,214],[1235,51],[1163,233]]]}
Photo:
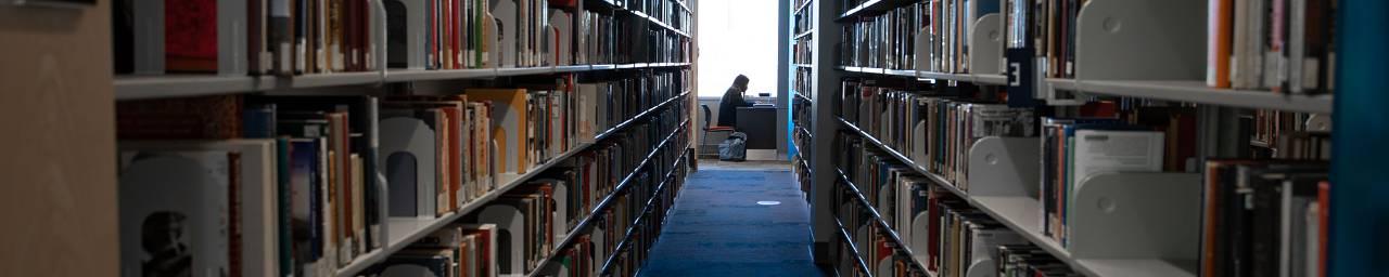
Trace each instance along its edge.
{"label": "light grey bookend with dark figure shape at lower far left", "polygon": [[228,151],[122,150],[121,276],[229,274],[232,166]]}

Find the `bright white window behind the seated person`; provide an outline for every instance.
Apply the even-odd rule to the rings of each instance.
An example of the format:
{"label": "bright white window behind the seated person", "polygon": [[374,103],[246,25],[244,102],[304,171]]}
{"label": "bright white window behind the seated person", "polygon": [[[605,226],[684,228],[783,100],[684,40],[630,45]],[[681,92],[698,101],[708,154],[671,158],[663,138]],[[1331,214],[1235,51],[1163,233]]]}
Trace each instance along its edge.
{"label": "bright white window behind the seated person", "polygon": [[751,79],[749,96],[776,96],[776,6],[770,0],[700,1],[699,96],[724,96],[739,73]]}

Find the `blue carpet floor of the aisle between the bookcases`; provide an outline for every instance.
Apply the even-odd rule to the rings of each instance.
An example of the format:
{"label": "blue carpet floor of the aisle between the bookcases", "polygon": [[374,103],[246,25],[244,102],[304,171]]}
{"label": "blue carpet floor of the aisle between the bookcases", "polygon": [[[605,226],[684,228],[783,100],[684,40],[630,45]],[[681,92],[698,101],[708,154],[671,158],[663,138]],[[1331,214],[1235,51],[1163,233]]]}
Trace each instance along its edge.
{"label": "blue carpet floor of the aisle between the bookcases", "polygon": [[688,180],[640,276],[824,276],[790,172],[706,169]]}

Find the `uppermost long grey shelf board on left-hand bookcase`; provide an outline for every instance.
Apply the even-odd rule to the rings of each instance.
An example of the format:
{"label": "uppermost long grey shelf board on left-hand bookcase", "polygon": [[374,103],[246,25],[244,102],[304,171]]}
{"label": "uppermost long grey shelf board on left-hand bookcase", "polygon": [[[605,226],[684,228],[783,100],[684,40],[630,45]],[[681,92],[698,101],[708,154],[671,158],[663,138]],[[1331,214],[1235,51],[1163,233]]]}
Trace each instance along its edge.
{"label": "uppermost long grey shelf board on left-hand bookcase", "polygon": [[115,76],[117,100],[169,98],[215,96],[232,93],[256,93],[279,89],[310,89],[331,86],[358,86],[397,82],[428,82],[454,79],[490,79],[497,76],[547,75],[567,72],[590,72],[611,69],[636,68],[672,68],[689,66],[689,62],[653,62],[653,64],[625,64],[625,65],[563,65],[539,68],[482,68],[482,69],[389,69],[385,79],[381,72],[346,72],[301,75],[292,78],[278,76],[219,76],[219,75],[149,75],[149,76]]}

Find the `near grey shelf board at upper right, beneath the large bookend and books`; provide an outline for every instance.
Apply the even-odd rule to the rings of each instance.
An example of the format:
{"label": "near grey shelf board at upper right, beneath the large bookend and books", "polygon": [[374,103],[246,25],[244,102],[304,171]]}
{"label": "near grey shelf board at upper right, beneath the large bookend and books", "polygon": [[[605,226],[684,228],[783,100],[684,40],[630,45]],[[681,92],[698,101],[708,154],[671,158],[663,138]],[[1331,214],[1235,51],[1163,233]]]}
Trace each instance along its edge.
{"label": "near grey shelf board at upper right, beneath the large bookend and books", "polygon": [[1203,80],[1068,80],[1047,79],[1057,90],[1295,112],[1332,112],[1332,96],[1292,96],[1268,90],[1208,87]]}

